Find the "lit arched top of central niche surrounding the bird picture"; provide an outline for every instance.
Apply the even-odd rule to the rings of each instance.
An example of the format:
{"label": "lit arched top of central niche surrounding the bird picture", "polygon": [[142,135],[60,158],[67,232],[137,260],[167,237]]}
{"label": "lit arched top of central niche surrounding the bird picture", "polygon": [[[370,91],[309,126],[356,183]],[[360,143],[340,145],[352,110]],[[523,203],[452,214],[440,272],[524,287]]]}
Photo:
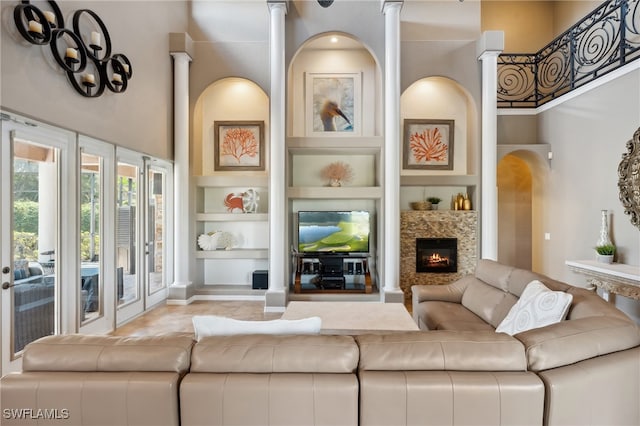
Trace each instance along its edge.
{"label": "lit arched top of central niche surrounding the bird picture", "polygon": [[287,135],[308,136],[310,84],[314,76],[357,76],[359,136],[382,132],[382,77],[372,51],[353,35],[332,31],[309,38],[293,55],[288,67]]}

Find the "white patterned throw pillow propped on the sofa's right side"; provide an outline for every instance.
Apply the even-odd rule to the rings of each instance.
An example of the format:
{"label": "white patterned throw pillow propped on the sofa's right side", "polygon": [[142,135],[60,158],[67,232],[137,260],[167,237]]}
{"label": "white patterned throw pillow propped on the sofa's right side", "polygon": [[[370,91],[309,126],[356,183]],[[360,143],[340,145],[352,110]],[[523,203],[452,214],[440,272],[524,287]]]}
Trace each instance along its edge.
{"label": "white patterned throw pillow propped on the sofa's right side", "polygon": [[518,302],[502,320],[497,333],[511,336],[533,328],[562,321],[569,311],[573,296],[563,291],[551,291],[538,280],[527,284]]}

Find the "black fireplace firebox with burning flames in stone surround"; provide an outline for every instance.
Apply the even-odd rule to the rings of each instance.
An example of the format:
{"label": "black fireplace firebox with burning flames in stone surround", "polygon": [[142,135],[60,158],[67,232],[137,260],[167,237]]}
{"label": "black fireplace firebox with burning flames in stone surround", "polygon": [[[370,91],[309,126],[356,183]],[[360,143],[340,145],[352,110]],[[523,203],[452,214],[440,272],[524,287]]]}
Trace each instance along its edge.
{"label": "black fireplace firebox with burning flames in stone surround", "polygon": [[416,238],[416,272],[458,272],[457,238]]}

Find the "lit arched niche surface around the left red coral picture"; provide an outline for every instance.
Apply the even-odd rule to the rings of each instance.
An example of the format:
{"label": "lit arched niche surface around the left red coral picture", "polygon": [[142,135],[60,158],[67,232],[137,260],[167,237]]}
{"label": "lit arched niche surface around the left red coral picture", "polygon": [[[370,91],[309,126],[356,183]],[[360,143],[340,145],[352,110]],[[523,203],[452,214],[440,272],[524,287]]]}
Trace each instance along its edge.
{"label": "lit arched niche surface around the left red coral picture", "polygon": [[214,168],[216,121],[263,121],[265,164],[269,158],[269,97],[251,80],[223,78],[198,97],[193,113],[193,174],[211,175]]}

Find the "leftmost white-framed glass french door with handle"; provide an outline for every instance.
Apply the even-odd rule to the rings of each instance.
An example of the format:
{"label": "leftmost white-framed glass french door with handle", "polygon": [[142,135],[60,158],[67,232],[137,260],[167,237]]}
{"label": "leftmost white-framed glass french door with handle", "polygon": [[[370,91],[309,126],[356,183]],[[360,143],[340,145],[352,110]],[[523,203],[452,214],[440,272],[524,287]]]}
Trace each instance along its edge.
{"label": "leftmost white-framed glass french door with handle", "polygon": [[[60,301],[73,282],[74,135],[3,114],[0,155],[2,373],[21,367],[24,347],[46,335],[74,331]],[[71,174],[73,175],[73,174]],[[68,293],[68,294],[67,294]]]}

